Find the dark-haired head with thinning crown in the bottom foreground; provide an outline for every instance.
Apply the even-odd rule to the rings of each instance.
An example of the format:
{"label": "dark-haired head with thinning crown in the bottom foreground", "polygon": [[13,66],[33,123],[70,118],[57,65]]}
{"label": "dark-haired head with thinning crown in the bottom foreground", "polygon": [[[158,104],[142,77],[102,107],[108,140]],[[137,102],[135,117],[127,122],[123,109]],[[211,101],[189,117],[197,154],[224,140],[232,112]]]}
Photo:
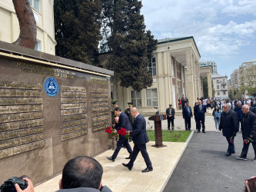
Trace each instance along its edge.
{"label": "dark-haired head with thinning crown in the bottom foreground", "polygon": [[65,164],[59,187],[60,189],[91,187],[99,190],[102,174],[103,169],[98,161],[92,157],[78,156]]}

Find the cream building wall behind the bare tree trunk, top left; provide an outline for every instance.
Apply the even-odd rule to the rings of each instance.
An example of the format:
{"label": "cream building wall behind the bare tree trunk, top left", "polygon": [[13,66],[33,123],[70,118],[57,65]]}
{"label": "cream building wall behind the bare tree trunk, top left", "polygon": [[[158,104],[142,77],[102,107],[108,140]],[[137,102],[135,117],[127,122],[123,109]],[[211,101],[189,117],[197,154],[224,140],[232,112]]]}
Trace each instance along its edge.
{"label": "cream building wall behind the bare tree trunk, top left", "polygon": [[[53,0],[29,0],[37,23],[35,50],[55,55]],[[18,18],[11,0],[0,1],[0,41],[12,43],[19,35]]]}

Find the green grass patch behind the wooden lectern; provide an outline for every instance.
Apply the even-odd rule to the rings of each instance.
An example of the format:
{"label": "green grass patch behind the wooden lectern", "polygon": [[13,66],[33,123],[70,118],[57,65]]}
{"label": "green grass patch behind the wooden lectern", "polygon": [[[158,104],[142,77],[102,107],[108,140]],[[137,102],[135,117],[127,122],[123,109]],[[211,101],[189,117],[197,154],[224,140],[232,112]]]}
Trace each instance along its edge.
{"label": "green grass patch behind the wooden lectern", "polygon": [[[149,141],[155,141],[155,131],[147,131]],[[191,131],[162,131],[162,139],[165,142],[185,142]]]}

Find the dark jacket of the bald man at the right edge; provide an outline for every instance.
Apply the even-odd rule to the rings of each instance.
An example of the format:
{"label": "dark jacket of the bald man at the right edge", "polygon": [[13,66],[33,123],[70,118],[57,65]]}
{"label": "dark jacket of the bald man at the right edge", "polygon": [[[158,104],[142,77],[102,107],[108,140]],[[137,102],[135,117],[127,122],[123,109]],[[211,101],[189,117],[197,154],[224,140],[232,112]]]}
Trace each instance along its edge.
{"label": "dark jacket of the bald man at the right edge", "polygon": [[252,140],[256,142],[256,114],[249,111],[248,114],[244,114],[243,121],[241,123],[243,139],[250,137],[253,135]]}

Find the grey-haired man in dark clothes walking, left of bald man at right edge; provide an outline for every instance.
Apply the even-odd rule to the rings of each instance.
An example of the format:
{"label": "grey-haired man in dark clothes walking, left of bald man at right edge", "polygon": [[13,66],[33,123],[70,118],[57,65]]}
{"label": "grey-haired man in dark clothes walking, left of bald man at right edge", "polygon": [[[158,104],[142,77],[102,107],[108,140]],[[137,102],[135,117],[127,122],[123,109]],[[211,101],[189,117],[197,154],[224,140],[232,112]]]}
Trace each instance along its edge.
{"label": "grey-haired man in dark clothes walking, left of bald man at right edge", "polygon": [[227,156],[235,153],[234,150],[234,137],[238,132],[238,116],[231,110],[230,104],[223,105],[223,112],[221,113],[221,123],[219,126],[219,131],[222,130],[222,134],[226,137],[228,141],[228,151]]}

